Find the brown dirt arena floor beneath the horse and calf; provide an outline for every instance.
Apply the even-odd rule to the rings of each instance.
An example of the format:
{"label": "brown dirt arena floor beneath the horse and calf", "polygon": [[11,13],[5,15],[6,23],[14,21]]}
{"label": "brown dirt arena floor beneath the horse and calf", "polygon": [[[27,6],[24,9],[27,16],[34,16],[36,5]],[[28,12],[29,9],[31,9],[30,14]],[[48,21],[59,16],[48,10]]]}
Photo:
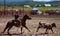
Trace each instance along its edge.
{"label": "brown dirt arena floor beneath the horse and calf", "polygon": [[[26,25],[30,29],[31,32],[29,32],[27,29],[23,29],[23,34],[20,34],[20,28],[13,27],[10,30],[10,35],[7,34],[7,31],[5,33],[1,33],[6,23],[13,19],[13,17],[0,17],[0,36],[60,36],[60,16],[36,16],[31,17],[32,20],[27,20]],[[39,22],[51,24],[56,23],[56,28],[53,28],[54,33],[52,33],[50,30],[48,31],[49,34],[44,34],[45,29],[40,28],[38,32],[36,32],[38,23]]]}

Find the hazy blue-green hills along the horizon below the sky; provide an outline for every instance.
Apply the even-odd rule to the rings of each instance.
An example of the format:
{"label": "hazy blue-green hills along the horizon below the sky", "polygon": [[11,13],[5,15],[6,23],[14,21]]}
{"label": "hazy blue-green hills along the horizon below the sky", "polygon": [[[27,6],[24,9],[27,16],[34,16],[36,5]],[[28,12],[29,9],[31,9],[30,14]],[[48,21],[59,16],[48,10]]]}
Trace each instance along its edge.
{"label": "hazy blue-green hills along the horizon below the sky", "polygon": [[[23,2],[8,2],[6,3],[6,5],[9,5],[9,6],[20,6],[20,5],[33,5],[33,4],[39,4],[39,5],[44,5],[44,4],[51,4],[53,6],[60,6],[60,1],[50,1],[50,2],[32,2],[32,1],[23,1]],[[3,5],[2,3],[0,3],[0,5]]]}

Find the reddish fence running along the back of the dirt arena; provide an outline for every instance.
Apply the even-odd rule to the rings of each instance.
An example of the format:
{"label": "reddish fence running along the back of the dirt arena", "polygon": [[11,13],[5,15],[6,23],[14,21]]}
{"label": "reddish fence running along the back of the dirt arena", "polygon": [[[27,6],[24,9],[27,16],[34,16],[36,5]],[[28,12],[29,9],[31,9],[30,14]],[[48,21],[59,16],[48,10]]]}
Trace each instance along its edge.
{"label": "reddish fence running along the back of the dirt arena", "polygon": [[[0,10],[0,15],[14,15],[15,12],[18,12],[20,15],[21,14],[31,14],[31,10]],[[60,10],[42,10],[44,14],[48,15],[60,15]]]}

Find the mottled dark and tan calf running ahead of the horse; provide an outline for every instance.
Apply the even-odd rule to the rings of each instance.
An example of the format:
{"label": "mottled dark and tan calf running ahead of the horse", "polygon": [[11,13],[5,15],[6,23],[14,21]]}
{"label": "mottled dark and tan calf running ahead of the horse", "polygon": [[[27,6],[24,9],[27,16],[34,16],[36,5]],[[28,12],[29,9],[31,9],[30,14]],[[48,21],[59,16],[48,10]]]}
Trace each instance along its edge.
{"label": "mottled dark and tan calf running ahead of the horse", "polygon": [[56,24],[55,24],[55,23],[46,25],[46,23],[41,23],[41,22],[39,22],[39,26],[38,26],[36,32],[38,32],[39,28],[44,28],[44,29],[46,29],[46,32],[45,32],[45,33],[48,33],[47,30],[51,30],[52,33],[54,33],[54,32],[53,32],[53,29],[52,29],[53,27],[56,27]]}

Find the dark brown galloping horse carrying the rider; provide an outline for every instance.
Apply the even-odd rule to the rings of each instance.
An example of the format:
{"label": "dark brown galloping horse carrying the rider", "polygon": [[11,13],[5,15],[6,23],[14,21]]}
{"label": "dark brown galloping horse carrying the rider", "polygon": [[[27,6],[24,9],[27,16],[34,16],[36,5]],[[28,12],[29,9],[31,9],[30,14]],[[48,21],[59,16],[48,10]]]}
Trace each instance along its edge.
{"label": "dark brown galloping horse carrying the rider", "polygon": [[28,15],[24,15],[22,19],[19,20],[11,20],[7,22],[6,27],[4,28],[3,32],[4,33],[7,29],[7,32],[9,34],[9,30],[15,26],[15,27],[21,27],[21,33],[22,33],[22,29],[23,27],[25,27],[29,32],[30,30],[26,27],[26,20],[31,20],[31,18]]}

